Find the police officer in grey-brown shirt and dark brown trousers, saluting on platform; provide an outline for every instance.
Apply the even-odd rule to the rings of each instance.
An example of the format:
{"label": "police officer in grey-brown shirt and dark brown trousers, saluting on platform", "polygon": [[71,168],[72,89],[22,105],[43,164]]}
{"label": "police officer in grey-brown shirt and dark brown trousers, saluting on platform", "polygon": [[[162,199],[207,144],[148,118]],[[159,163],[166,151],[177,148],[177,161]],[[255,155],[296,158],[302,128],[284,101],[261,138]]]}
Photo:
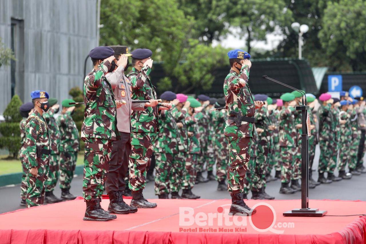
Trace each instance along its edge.
{"label": "police officer in grey-brown shirt and dark brown trousers, saluting on platform", "polygon": [[126,188],[124,177],[127,173],[128,160],[131,153],[131,112],[132,110],[143,111],[148,106],[156,106],[157,100],[150,100],[149,103],[132,103],[131,83],[124,75],[128,68],[128,53],[126,46],[111,46],[118,60],[114,72],[106,75],[112,86],[116,100],[126,102],[122,107],[117,108],[117,129],[121,139],[113,141],[112,154],[109,162],[109,171],[105,188],[109,196],[108,212],[113,214],[129,214],[137,212],[137,208],[128,206],[123,201],[122,195]]}

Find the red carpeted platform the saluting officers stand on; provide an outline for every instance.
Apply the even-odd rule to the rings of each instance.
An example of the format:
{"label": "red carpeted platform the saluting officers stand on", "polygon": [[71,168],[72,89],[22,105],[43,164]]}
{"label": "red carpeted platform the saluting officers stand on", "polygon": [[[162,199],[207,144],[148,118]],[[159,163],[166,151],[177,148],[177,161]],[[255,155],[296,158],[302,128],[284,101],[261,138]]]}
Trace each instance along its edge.
{"label": "red carpeted platform the saluting officers stand on", "polygon": [[[273,229],[265,232],[256,229],[266,229],[274,220],[272,211],[265,206],[259,206],[257,217],[249,219],[229,217],[227,199],[152,201],[158,204],[157,208],[117,215],[117,219],[108,222],[83,221],[85,203],[81,197],[4,213],[0,215],[0,243],[366,243],[365,216],[282,216],[284,211],[299,207],[300,200],[248,200],[249,206],[268,203],[275,209]],[[102,207],[107,209],[108,203],[103,199]],[[328,210],[328,215],[366,213],[366,202],[361,201],[310,200],[310,206]],[[189,226],[180,225],[183,209],[179,207],[185,208],[186,218],[181,220]]]}

